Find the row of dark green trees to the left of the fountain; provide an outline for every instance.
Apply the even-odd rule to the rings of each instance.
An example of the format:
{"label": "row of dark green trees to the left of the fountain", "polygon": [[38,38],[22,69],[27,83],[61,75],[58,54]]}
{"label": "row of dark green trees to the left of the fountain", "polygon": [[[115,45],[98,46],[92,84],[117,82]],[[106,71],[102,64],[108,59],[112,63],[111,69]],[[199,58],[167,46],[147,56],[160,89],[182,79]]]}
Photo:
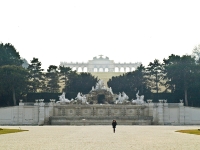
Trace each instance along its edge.
{"label": "row of dark green trees to the left of the fountain", "polygon": [[[47,72],[33,57],[30,64],[9,43],[0,43],[0,105],[16,105],[27,93],[88,93],[98,79],[90,73],[77,73],[69,67],[50,65]],[[26,67],[25,67],[26,66]],[[62,91],[60,88],[62,86]]]}

